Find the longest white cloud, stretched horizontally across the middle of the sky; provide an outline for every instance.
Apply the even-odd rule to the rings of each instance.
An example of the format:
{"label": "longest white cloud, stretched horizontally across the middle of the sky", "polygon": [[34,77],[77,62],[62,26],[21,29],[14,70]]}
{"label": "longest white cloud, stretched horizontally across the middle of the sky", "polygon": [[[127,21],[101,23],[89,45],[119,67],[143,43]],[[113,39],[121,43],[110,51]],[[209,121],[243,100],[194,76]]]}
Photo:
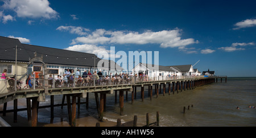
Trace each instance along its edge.
{"label": "longest white cloud, stretched horizontally across the middle of the sky", "polygon": [[106,31],[98,29],[92,34],[77,37],[71,44],[159,44],[162,48],[185,47],[199,43],[194,39],[181,39],[181,30],[163,30],[159,32],[146,31],[142,34],[133,31]]}

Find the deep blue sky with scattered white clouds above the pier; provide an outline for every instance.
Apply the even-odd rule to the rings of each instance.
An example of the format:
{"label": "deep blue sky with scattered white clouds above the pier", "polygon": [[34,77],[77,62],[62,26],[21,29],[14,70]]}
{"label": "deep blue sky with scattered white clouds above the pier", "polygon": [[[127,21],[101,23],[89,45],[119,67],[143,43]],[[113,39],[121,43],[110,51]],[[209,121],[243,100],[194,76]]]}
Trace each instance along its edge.
{"label": "deep blue sky with scattered white clouds above the pier", "polygon": [[[256,76],[256,1],[1,0],[0,36],[99,53],[159,51],[160,65]],[[118,60],[118,58],[117,58]]]}

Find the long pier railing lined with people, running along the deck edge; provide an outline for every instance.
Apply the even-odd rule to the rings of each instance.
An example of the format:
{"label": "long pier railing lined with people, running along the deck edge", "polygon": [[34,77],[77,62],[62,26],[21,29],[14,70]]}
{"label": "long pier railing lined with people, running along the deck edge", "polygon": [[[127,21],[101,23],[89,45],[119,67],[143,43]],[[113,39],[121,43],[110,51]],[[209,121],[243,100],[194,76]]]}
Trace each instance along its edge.
{"label": "long pier railing lined with people, running along the deck edge", "polygon": [[17,92],[24,89],[43,89],[58,87],[89,87],[89,86],[108,86],[136,84],[138,82],[154,81],[175,81],[193,78],[205,78],[205,76],[65,76],[63,74],[52,74],[49,76],[32,75],[25,76],[6,76],[8,79],[0,80],[0,95],[10,92]]}

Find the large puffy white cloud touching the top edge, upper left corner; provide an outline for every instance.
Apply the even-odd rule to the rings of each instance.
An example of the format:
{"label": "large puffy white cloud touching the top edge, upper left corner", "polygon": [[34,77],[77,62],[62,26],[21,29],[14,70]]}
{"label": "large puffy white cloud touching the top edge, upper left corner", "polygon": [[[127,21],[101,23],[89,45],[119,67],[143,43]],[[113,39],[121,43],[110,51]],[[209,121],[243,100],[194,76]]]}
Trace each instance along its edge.
{"label": "large puffy white cloud touching the top edge, upper left corner", "polygon": [[2,7],[13,10],[20,18],[59,18],[59,14],[49,7],[48,0],[4,0],[4,2]]}

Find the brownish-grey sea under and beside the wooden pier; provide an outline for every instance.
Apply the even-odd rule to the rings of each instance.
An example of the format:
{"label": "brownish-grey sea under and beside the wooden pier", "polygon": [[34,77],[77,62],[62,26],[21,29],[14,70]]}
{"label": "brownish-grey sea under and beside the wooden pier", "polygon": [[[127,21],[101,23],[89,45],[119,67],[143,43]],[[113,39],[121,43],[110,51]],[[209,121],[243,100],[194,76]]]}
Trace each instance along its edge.
{"label": "brownish-grey sea under and beside the wooden pier", "polygon": [[[162,87],[163,89],[163,87]],[[162,90],[163,91],[163,90]],[[229,77],[220,82],[196,87],[191,90],[183,90],[177,93],[154,93],[150,100],[147,86],[144,87],[144,101],[141,99],[141,90],[137,87],[137,97],[131,103],[131,92],[124,93],[124,110],[120,115],[119,103],[114,102],[114,94],[107,94],[106,111],[103,122],[98,120],[96,100],[94,94],[89,94],[89,108],[81,104],[80,112],[77,112],[77,127],[95,127],[100,123],[101,127],[114,127],[117,119],[121,119],[122,126],[132,126],[134,116],[137,116],[137,126],[146,125],[146,114],[149,114],[150,123],[156,122],[156,112],[159,112],[160,127],[255,127],[256,126],[256,77]],[[55,96],[55,104],[61,103],[62,95]],[[81,102],[85,102],[81,98]],[[117,100],[118,101],[118,100]],[[46,102],[40,102],[40,106],[50,104],[50,97]],[[2,110],[0,105],[0,110]],[[188,109],[189,106],[189,109]],[[185,112],[184,112],[185,107]],[[238,109],[238,108],[239,109]],[[26,99],[18,100],[18,108],[26,108]],[[7,103],[7,110],[13,109],[13,102]],[[13,123],[13,113],[2,116],[11,126],[27,127],[27,111],[18,112],[18,122]],[[67,127],[67,106],[54,107],[54,118],[51,119],[50,108],[40,108],[38,113],[38,126],[42,127]]]}

